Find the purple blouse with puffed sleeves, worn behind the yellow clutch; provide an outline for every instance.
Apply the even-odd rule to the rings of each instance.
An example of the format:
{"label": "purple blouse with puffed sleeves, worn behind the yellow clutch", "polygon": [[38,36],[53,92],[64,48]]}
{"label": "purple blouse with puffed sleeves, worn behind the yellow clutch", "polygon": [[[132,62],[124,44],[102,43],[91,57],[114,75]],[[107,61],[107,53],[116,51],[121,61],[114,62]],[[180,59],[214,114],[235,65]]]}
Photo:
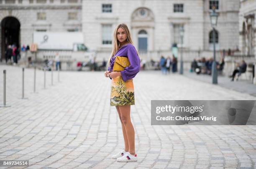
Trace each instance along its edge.
{"label": "purple blouse with puffed sleeves, worn behind the yellow clutch", "polygon": [[126,56],[128,57],[130,62],[130,66],[126,67],[123,71],[120,72],[123,78],[123,81],[127,81],[134,78],[136,74],[140,71],[141,61],[140,61],[140,58],[138,57],[135,47],[131,43],[128,43],[127,45],[122,46],[115,53],[114,57],[110,59],[110,66],[108,67],[108,71],[110,72],[113,70],[115,56]]}

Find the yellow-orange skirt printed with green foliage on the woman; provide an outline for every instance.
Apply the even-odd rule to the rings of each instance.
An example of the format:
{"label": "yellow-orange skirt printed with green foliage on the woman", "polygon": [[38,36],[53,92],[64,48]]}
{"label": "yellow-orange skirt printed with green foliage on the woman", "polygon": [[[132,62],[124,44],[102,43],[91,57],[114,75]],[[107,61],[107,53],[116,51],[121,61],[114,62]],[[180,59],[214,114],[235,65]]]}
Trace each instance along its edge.
{"label": "yellow-orange skirt printed with green foliage on the woman", "polygon": [[112,78],[110,106],[134,105],[133,79],[123,81],[121,76]]}

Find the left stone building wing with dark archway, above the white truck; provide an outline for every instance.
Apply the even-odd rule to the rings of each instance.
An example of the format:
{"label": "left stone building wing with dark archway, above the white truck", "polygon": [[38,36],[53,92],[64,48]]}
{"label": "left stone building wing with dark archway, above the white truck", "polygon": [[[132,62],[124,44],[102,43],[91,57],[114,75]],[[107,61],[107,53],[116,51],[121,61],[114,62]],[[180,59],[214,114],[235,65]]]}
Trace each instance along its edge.
{"label": "left stone building wing with dark archway, above the white truck", "polygon": [[82,31],[82,0],[0,0],[1,59],[7,45],[33,43],[34,31]]}

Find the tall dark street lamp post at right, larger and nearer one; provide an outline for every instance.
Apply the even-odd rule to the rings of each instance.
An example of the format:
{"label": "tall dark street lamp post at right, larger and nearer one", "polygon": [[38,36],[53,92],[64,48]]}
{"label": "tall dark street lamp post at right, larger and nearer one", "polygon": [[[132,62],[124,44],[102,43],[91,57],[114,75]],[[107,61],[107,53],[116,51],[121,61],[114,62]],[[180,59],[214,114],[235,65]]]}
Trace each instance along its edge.
{"label": "tall dark street lamp post at right, larger and nearer one", "polygon": [[213,63],[212,63],[212,84],[218,84],[218,73],[216,67],[216,49],[215,49],[215,27],[217,26],[218,14],[215,12],[215,8],[212,8],[210,13],[210,20],[213,29]]}

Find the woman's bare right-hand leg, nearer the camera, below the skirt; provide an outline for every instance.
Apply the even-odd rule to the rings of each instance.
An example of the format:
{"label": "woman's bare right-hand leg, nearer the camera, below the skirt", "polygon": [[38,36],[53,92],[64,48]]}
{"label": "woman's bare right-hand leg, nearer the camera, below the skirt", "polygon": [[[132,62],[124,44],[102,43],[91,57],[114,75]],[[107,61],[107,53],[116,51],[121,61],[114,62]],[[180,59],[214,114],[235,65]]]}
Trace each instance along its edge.
{"label": "woman's bare right-hand leg, nearer the camera, below the skirt", "polygon": [[121,120],[123,121],[123,124],[125,126],[125,131],[128,139],[129,144],[129,153],[132,155],[135,155],[135,133],[133,124],[131,123],[131,117],[130,117],[130,105],[125,106],[119,106],[120,114],[121,114]]}

